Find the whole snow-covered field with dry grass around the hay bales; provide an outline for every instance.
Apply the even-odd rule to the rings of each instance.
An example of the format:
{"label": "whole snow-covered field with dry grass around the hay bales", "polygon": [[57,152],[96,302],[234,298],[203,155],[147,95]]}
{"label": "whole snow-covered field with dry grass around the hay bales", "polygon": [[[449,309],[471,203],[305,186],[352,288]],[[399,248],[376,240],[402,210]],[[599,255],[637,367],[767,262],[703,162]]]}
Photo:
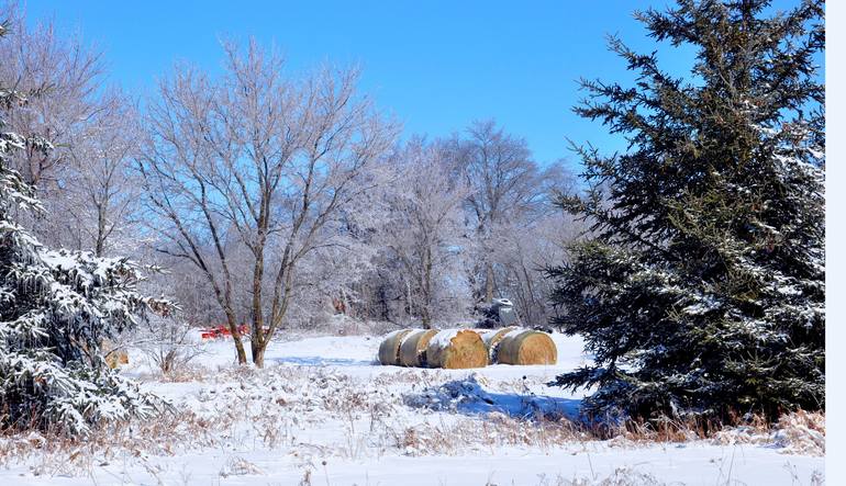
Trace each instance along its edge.
{"label": "whole snow-covered field with dry grass around the hay bales", "polygon": [[[0,484],[149,485],[812,485],[819,449],[788,434],[600,441],[568,420],[581,394],[546,382],[579,365],[555,336],[554,366],[419,370],[375,364],[379,338],[272,343],[266,370],[238,370],[229,341],[163,382],[131,353],[124,373],[174,405],[170,418],[85,447],[0,442]],[[816,453],[816,454],[814,454]]]}

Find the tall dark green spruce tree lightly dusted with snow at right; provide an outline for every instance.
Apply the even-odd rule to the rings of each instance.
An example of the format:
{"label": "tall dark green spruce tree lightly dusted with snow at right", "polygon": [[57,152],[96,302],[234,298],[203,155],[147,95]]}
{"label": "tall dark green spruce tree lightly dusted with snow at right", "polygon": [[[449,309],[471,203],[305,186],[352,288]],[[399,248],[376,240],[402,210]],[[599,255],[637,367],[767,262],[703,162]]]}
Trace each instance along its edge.
{"label": "tall dark green spruce tree lightly dusted with snow at right", "polygon": [[[586,410],[636,419],[769,418],[822,409],[825,363],[823,4],[680,0],[635,14],[692,45],[684,78],[620,39],[632,88],[583,81],[577,113],[630,143],[577,147],[589,191],[559,204],[592,224],[549,269],[555,324],[594,363]],[[604,190],[603,190],[604,188]]]}

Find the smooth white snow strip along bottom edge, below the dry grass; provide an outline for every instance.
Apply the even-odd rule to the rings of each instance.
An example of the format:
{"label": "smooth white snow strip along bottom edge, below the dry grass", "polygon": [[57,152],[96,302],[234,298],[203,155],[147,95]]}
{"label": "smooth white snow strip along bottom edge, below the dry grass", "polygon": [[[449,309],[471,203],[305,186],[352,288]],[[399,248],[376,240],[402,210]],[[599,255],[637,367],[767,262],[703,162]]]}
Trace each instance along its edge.
{"label": "smooth white snow strip along bottom edge, below the dry grass", "polygon": [[[711,485],[791,485],[808,483],[803,475],[805,461],[788,460],[773,464],[767,454],[744,451],[741,448],[713,449],[702,447],[639,449],[625,451],[587,448],[564,454],[525,453],[520,450],[499,451],[497,455],[479,456],[386,456],[372,462],[335,460],[313,464],[313,467],[286,467],[290,462],[269,451],[210,451],[204,454],[187,454],[176,465],[160,465],[151,461],[155,476],[164,484],[221,484],[297,485],[311,471],[313,484],[329,485],[556,485],[574,478],[600,479],[611,477],[617,471],[637,472],[657,478],[671,477],[674,484]],[[233,462],[252,465],[242,473],[230,472]],[[78,484],[140,484],[145,476],[125,474],[120,464],[100,467],[91,478]],[[243,471],[243,470],[242,470]],[[226,473],[232,475],[226,475]],[[238,475],[241,474],[241,475]],[[619,473],[617,473],[619,474]],[[794,475],[805,479],[793,483]],[[147,476],[147,477],[155,477]],[[705,478],[711,481],[705,481]],[[40,478],[38,484],[71,484],[74,479],[54,476]],[[155,479],[148,484],[156,484]],[[560,483],[559,483],[560,481]],[[625,483],[616,483],[625,484]],[[638,483],[633,483],[638,484]],[[649,484],[649,483],[641,483]]]}

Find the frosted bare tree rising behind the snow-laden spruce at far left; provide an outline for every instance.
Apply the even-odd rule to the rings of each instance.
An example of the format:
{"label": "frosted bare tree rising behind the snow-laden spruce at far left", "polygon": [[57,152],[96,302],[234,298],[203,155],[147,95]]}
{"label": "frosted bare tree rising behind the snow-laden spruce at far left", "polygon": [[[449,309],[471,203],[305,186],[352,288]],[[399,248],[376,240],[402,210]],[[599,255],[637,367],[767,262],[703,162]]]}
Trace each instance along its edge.
{"label": "frosted bare tree rising behind the snow-laden spruce at far left", "polygon": [[43,134],[54,147],[31,144],[12,159],[48,210],[30,223],[47,244],[102,256],[111,242],[134,239],[129,216],[137,194],[127,166],[137,114],[119,90],[103,89],[100,50],[56,33],[53,23],[27,26],[14,3],[4,8],[16,35],[0,45],[0,75],[38,94],[9,123],[26,138]]}

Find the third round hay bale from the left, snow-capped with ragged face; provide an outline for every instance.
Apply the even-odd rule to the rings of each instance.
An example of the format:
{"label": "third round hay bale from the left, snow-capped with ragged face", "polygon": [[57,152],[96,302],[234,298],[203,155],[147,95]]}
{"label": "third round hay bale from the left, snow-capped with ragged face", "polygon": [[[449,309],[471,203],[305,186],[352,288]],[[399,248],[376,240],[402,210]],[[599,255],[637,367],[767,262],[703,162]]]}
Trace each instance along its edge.
{"label": "third round hay bale from the left, snow-capped with ragged face", "polygon": [[488,365],[488,349],[471,329],[442,330],[428,341],[426,361],[430,368],[458,370]]}

